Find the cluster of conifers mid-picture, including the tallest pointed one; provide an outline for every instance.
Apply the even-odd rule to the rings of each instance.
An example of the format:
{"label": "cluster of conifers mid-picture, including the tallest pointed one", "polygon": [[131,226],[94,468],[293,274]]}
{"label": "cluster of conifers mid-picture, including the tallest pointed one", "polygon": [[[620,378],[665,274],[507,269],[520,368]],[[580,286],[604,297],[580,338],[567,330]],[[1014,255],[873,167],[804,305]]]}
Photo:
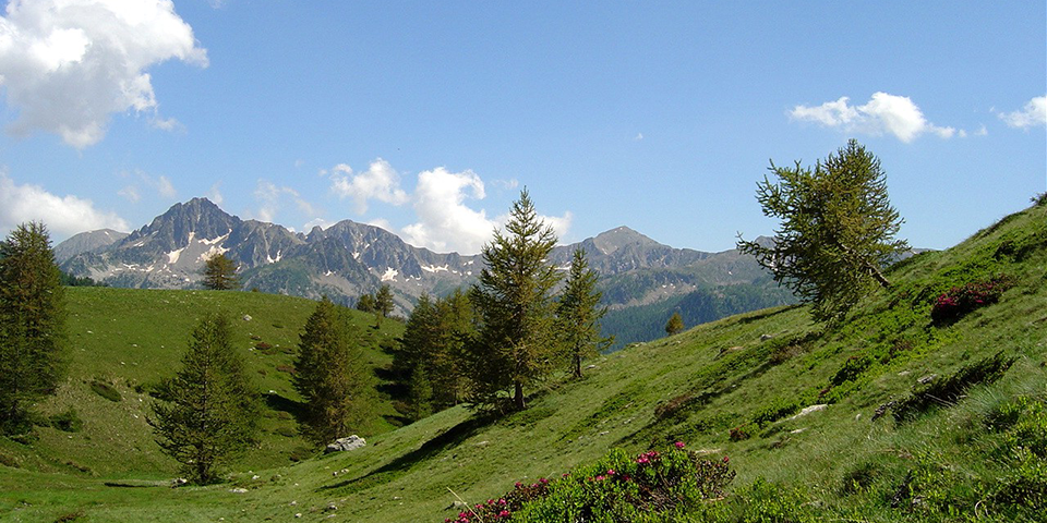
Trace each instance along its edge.
{"label": "cluster of conifers mid-picture, including the tallest pointed one", "polygon": [[505,230],[481,255],[470,289],[422,296],[392,365],[398,409],[409,419],[459,403],[494,412],[522,410],[526,392],[550,373],[581,377],[581,362],[611,343],[600,335],[597,275],[574,254],[566,282],[549,264],[556,244],[525,190]]}

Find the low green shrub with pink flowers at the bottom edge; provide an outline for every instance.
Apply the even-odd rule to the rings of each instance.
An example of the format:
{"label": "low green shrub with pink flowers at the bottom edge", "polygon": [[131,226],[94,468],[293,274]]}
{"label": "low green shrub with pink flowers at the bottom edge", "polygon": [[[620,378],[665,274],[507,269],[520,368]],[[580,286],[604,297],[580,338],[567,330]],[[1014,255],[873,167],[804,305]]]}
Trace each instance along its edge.
{"label": "low green shrub with pink flowers at the bottom edge", "polygon": [[730,460],[708,460],[684,447],[677,441],[663,451],[638,455],[615,449],[561,478],[517,484],[502,498],[445,522],[635,522],[671,516],[721,499],[723,488],[735,476]]}

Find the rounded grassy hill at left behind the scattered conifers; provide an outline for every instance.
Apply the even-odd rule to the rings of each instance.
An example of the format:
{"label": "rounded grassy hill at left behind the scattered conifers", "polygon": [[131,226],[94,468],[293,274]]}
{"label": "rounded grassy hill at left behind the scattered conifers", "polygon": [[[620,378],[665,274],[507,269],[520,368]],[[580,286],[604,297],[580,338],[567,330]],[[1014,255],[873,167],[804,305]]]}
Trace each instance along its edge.
{"label": "rounded grassy hill at left behind the scattered conifers", "polygon": [[[251,292],[161,291],[68,288],[69,376],[58,393],[40,405],[44,416],[82,422],[76,431],[37,427],[36,440],[0,438],[0,461],[41,472],[99,477],[169,477],[174,463],[159,452],[145,422],[151,388],[173,376],[198,319],[214,311],[233,318],[233,340],[250,377],[264,392],[262,440],[239,467],[268,467],[306,455],[297,434],[298,394],[290,372],[298,337],[315,308],[309,300]],[[382,340],[402,332],[402,324],[353,313],[366,345],[368,364],[382,367],[389,356]],[[69,413],[75,413],[70,416]],[[387,401],[380,416],[395,414]],[[393,426],[376,417],[368,433]],[[24,445],[31,443],[31,445]]]}

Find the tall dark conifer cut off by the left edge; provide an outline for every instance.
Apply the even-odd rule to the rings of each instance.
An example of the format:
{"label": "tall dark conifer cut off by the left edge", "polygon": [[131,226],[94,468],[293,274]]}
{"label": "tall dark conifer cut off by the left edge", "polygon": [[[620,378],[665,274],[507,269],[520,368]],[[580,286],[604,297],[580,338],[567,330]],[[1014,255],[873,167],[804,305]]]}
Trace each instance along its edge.
{"label": "tall dark conifer cut off by the left edge", "polygon": [[64,374],[64,289],[47,228],[20,224],[0,243],[0,433],[27,428],[26,409]]}

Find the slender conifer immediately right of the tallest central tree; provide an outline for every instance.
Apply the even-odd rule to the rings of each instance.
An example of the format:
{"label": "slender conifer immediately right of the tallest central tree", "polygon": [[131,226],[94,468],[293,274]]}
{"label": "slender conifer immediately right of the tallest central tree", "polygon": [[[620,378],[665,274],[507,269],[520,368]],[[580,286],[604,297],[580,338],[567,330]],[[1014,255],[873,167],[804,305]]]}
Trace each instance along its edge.
{"label": "slender conifer immediately right of the tallest central tree", "polygon": [[600,336],[600,318],[606,307],[599,307],[603,293],[597,290],[597,272],[589,268],[586,252],[575,250],[564,293],[556,307],[557,331],[576,378],[581,377],[581,361],[595,356],[614,343],[614,337]]}

